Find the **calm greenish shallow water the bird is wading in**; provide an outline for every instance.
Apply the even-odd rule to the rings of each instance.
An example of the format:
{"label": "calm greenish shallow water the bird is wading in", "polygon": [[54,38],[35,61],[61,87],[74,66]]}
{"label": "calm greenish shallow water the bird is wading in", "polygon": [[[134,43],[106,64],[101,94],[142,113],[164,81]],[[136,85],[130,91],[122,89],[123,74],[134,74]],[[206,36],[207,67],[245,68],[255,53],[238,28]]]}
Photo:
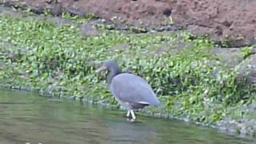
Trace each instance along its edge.
{"label": "calm greenish shallow water the bird is wading in", "polygon": [[255,143],[176,120],[138,115],[37,94],[0,89],[0,143]]}

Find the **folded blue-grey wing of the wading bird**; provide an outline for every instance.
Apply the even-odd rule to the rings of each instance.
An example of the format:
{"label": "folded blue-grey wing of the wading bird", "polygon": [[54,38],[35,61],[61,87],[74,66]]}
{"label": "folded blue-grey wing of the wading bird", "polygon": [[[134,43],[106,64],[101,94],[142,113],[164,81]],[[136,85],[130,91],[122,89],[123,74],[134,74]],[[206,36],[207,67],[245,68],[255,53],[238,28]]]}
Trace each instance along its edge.
{"label": "folded blue-grey wing of the wading bird", "polygon": [[110,90],[124,102],[158,105],[160,102],[151,86],[134,74],[118,74],[111,82]]}

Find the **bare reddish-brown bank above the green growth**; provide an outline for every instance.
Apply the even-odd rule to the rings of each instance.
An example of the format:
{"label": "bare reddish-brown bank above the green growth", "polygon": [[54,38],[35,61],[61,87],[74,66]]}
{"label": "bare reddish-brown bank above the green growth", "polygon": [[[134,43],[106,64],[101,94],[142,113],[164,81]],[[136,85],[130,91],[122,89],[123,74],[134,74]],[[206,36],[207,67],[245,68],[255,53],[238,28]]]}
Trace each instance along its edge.
{"label": "bare reddish-brown bank above the green growth", "polygon": [[[85,15],[88,12],[115,23],[186,28],[194,34],[208,34],[222,46],[251,46],[256,37],[255,1],[248,0],[3,0],[5,6],[29,7],[35,13]],[[160,26],[160,27],[159,27]],[[167,27],[166,27],[167,26]]]}

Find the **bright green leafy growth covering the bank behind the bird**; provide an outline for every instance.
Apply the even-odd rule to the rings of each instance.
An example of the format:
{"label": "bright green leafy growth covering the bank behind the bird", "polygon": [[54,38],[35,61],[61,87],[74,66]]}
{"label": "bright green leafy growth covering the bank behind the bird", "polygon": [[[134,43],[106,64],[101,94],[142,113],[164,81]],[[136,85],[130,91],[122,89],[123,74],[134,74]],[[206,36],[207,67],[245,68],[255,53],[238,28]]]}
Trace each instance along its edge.
{"label": "bright green leafy growth covering the bank behind the bird", "polygon": [[[35,19],[0,19],[0,82],[117,105],[99,82],[99,62],[114,58],[150,82],[164,111],[214,124],[254,100],[250,85],[211,54],[213,42],[186,31],[133,34],[102,30],[83,36],[78,26]],[[244,96],[247,96],[246,98]],[[158,109],[154,109],[158,112]]]}

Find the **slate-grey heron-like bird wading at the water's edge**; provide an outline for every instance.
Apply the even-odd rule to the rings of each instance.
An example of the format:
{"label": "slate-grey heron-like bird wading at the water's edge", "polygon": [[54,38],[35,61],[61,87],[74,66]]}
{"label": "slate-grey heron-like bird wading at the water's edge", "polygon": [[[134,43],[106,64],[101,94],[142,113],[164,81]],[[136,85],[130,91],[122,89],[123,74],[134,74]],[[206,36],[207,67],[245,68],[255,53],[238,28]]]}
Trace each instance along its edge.
{"label": "slate-grey heron-like bird wading at the water's edge", "polygon": [[107,70],[106,82],[115,99],[127,110],[126,117],[136,119],[134,110],[145,106],[160,106],[160,101],[148,82],[136,74],[122,72],[117,62],[107,59],[96,73]]}

